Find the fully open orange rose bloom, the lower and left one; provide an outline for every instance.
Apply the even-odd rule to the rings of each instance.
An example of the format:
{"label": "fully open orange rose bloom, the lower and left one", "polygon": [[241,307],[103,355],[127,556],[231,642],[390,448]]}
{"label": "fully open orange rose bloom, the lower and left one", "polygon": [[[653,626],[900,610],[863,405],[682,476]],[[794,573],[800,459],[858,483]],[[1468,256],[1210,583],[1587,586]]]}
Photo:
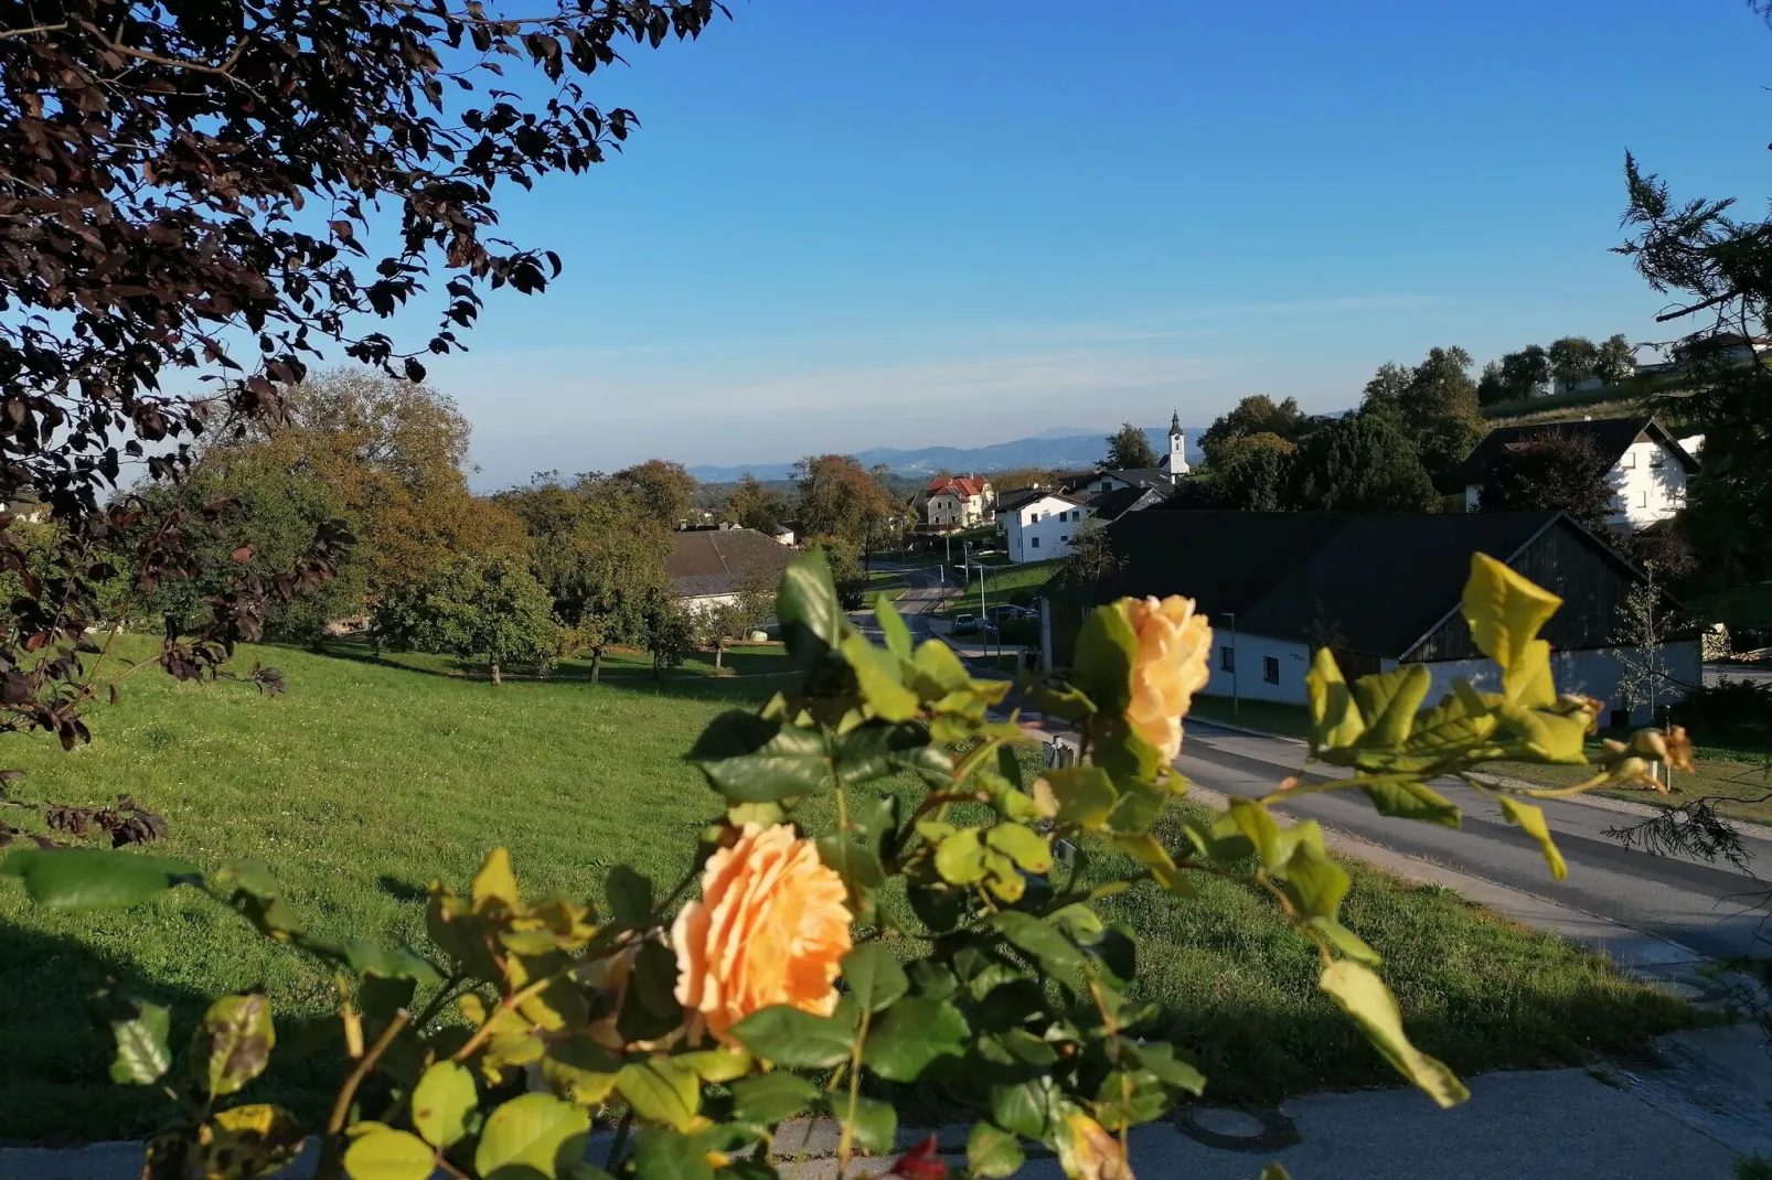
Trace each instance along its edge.
{"label": "fully open orange rose bloom, the lower and left one", "polygon": [[702,900],[672,927],[677,1003],[728,1045],[732,1026],[758,1008],[831,1015],[851,948],[845,898],[812,840],[787,824],[746,824],[735,845],[707,858]]}

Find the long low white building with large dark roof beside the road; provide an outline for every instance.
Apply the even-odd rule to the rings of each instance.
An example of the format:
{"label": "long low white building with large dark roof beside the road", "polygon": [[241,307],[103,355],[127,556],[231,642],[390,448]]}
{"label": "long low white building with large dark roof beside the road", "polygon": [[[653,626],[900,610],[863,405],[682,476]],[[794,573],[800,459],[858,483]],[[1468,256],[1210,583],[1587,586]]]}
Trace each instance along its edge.
{"label": "long low white building with large dark roof beside the road", "polygon": [[[1487,553],[1563,597],[1542,631],[1558,689],[1607,702],[1602,721],[1611,725],[1652,719],[1650,703],[1621,687],[1621,656],[1643,654],[1614,641],[1618,602],[1644,578],[1563,512],[1159,510],[1129,512],[1108,528],[1120,572],[1081,597],[1040,601],[1047,668],[1070,663],[1092,602],[1180,594],[1212,624],[1205,691],[1214,696],[1302,705],[1318,647],[1348,677],[1425,664],[1430,705],[1460,675],[1494,691],[1499,668],[1476,650],[1460,613],[1471,555]],[[1673,638],[1660,661],[1669,675],[1657,703],[1669,703],[1678,684],[1699,680],[1698,631]]]}

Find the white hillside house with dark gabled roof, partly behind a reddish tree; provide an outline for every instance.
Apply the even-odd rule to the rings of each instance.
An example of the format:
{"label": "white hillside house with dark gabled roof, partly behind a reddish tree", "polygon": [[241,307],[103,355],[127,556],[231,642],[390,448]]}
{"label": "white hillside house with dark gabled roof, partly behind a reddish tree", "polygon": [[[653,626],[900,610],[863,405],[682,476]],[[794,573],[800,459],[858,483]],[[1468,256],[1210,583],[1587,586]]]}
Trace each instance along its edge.
{"label": "white hillside house with dark gabled roof, partly behind a reddish tree", "polygon": [[1465,512],[1483,507],[1483,485],[1496,461],[1556,438],[1588,438],[1607,464],[1614,528],[1632,532],[1666,521],[1685,503],[1687,477],[1698,459],[1655,418],[1588,418],[1490,431],[1449,477],[1446,489],[1464,489]]}

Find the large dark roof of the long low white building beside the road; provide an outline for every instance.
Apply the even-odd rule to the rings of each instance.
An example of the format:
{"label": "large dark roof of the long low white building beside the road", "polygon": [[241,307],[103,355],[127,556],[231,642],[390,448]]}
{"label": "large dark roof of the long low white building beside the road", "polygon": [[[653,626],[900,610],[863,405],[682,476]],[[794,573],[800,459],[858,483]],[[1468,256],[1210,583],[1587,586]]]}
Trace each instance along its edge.
{"label": "large dark roof of the long low white building beside the road", "polygon": [[1471,555],[1510,560],[1570,528],[1621,576],[1641,578],[1561,512],[1125,512],[1109,526],[1122,569],[1095,601],[1182,594],[1214,625],[1297,643],[1325,627],[1348,648],[1402,659],[1458,609]]}

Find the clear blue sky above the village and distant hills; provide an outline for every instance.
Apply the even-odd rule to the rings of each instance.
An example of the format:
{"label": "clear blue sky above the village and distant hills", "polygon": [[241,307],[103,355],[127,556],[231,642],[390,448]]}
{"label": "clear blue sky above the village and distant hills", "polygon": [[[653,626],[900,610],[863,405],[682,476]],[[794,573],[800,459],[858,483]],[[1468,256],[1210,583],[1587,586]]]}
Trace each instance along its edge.
{"label": "clear blue sky above the village and distant hills", "polygon": [[507,195],[565,275],[432,376],[494,487],[1334,409],[1435,344],[1648,340],[1607,253],[1623,151],[1758,214],[1768,50],[1740,0],[737,0],[599,76],[626,154]]}

